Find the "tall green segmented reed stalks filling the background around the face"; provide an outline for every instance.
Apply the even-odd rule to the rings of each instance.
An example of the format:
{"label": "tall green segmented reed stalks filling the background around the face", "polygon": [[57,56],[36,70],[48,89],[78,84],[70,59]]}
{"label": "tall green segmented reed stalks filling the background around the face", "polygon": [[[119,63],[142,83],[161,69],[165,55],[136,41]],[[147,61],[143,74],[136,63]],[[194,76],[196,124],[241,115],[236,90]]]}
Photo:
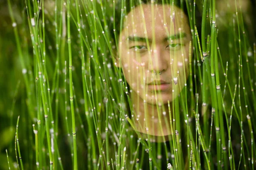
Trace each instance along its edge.
{"label": "tall green segmented reed stalks filling the background around the face", "polygon": [[226,11],[218,0],[185,2],[193,30],[188,80],[168,111],[155,106],[171,132],[159,143],[133,130],[143,118],[115,63],[115,3],[1,4],[8,15],[0,20],[0,75],[8,81],[0,83],[0,169],[254,169],[256,44],[248,28],[256,28],[242,0],[234,8],[225,1]]}

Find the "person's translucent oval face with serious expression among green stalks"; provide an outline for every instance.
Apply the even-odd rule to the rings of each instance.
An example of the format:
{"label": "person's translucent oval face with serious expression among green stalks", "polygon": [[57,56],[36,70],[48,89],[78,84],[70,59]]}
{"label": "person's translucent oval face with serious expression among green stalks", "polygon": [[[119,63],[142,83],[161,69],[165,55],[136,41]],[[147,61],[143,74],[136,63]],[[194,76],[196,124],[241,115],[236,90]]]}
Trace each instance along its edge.
{"label": "person's translucent oval face with serious expression among green stalks", "polygon": [[132,93],[148,104],[155,105],[156,98],[172,102],[173,90],[176,97],[186,83],[192,40],[188,22],[180,8],[169,5],[143,4],[124,18],[117,66]]}

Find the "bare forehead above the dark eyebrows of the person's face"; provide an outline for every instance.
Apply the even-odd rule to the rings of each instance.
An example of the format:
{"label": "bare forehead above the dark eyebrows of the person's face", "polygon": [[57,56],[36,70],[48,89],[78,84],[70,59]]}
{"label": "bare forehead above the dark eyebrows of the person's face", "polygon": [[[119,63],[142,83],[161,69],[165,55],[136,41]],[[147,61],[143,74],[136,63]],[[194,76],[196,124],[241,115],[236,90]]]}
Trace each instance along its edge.
{"label": "bare forehead above the dark eyebrows of the person's face", "polygon": [[174,33],[178,28],[186,32],[185,27],[188,26],[186,14],[176,6],[143,4],[132,9],[125,17],[122,32],[142,36],[146,31],[150,37],[153,30],[157,34],[166,34],[166,31]]}

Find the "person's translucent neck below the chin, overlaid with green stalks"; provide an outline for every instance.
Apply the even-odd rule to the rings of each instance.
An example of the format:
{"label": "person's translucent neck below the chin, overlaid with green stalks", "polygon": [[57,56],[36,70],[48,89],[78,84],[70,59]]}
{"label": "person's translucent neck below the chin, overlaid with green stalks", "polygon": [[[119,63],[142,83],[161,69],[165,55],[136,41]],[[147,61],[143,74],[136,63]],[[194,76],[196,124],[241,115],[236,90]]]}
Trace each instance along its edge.
{"label": "person's translucent neck below the chin, overlaid with green stalks", "polygon": [[172,132],[168,104],[158,106],[144,103],[143,99],[134,92],[131,94],[131,101],[135,111],[135,130],[143,133],[145,137],[152,136],[153,142],[169,140],[168,136]]}

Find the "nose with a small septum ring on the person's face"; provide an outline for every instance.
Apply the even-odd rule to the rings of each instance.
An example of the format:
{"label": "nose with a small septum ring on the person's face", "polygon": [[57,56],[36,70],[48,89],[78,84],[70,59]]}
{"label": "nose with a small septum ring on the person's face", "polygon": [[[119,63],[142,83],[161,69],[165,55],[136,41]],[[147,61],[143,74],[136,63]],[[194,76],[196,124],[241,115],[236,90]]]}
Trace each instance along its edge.
{"label": "nose with a small septum ring on the person's face", "polygon": [[149,61],[149,70],[154,74],[162,74],[168,68],[168,57],[166,56],[165,49],[161,45],[156,45],[151,48],[151,61]]}

